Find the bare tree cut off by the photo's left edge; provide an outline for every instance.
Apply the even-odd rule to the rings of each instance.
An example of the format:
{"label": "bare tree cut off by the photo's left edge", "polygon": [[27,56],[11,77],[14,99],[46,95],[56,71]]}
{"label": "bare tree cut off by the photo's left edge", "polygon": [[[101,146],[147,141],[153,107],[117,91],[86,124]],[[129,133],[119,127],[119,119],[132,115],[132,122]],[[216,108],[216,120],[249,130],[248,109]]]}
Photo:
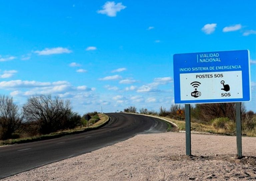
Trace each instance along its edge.
{"label": "bare tree cut off by the photo's left edge", "polygon": [[9,139],[23,119],[18,106],[13,103],[12,97],[0,95],[0,139]]}

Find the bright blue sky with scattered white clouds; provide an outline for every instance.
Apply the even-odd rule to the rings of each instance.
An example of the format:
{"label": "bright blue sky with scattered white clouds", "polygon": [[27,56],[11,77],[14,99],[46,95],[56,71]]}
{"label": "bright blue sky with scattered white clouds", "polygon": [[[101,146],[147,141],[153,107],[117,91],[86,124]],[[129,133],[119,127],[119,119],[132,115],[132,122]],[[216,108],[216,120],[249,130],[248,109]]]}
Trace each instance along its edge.
{"label": "bright blue sky with scattered white clouds", "polygon": [[173,55],[250,51],[256,112],[256,1],[1,1],[0,90],[80,114],[174,104]]}

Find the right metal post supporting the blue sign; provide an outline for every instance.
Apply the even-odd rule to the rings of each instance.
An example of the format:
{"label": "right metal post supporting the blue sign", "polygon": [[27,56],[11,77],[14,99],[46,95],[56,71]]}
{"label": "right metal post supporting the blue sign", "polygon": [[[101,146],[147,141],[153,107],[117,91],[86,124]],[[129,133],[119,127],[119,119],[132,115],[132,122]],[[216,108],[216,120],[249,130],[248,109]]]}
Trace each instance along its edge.
{"label": "right metal post supporting the blue sign", "polygon": [[236,102],[236,146],[237,156],[242,158],[241,102]]}

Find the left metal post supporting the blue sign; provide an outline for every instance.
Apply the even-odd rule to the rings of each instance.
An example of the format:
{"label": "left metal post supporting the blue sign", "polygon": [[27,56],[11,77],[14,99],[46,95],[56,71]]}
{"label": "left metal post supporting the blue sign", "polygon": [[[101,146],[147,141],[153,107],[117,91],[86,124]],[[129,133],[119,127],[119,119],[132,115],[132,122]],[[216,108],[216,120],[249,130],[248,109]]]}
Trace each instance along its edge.
{"label": "left metal post supporting the blue sign", "polygon": [[186,155],[191,155],[190,104],[185,104]]}

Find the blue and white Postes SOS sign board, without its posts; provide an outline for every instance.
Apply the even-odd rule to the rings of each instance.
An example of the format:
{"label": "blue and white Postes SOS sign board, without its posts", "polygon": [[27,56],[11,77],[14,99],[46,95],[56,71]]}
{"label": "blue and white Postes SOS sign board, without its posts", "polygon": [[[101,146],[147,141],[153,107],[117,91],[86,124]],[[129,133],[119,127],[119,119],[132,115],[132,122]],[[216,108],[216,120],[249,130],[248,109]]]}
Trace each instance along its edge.
{"label": "blue and white Postes SOS sign board, without its posts", "polygon": [[250,100],[248,50],[175,54],[177,104]]}

